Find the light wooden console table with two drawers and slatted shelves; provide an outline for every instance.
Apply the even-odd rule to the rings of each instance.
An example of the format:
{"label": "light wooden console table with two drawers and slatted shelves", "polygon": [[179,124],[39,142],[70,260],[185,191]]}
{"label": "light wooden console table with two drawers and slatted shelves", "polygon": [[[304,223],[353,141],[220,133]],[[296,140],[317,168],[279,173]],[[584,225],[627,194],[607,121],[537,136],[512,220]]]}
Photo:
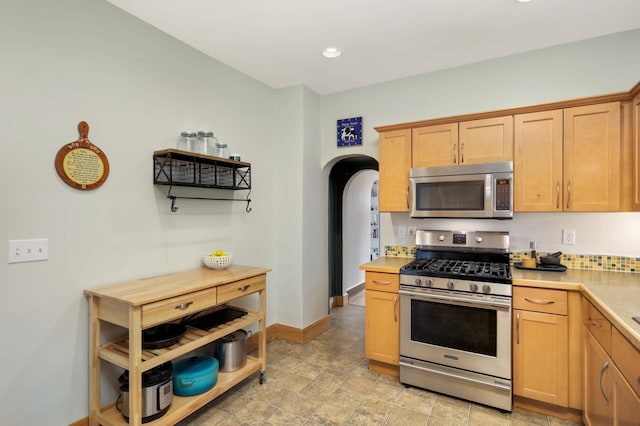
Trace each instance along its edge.
{"label": "light wooden console table with two drawers and slatted shelves", "polygon": [[[125,425],[115,404],[101,407],[100,377],[103,361],[129,370],[129,422],[142,423],[142,373],[185,355],[243,327],[258,323],[258,357],[230,373],[218,372],[216,385],[191,397],[173,396],[171,408],[159,419],[145,423],[175,424],[220,396],[250,375],[266,371],[266,268],[231,265],[227,269],[206,267],[157,277],[127,281],[85,290],[89,298],[89,424]],[[143,349],[142,330],[179,320],[227,302],[258,293],[259,309],[209,331],[187,326],[178,343],[162,349]],[[101,343],[101,323],[128,329],[128,337]]]}

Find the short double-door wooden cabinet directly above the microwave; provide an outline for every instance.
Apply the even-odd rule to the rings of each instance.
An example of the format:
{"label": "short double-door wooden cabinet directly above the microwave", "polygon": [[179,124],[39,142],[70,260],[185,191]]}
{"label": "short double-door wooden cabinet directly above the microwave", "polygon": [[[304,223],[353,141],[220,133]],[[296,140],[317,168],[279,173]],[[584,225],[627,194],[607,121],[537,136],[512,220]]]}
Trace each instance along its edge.
{"label": "short double-door wooden cabinet directly above the microwave", "polygon": [[415,128],[412,150],[412,167],[511,161],[513,116]]}

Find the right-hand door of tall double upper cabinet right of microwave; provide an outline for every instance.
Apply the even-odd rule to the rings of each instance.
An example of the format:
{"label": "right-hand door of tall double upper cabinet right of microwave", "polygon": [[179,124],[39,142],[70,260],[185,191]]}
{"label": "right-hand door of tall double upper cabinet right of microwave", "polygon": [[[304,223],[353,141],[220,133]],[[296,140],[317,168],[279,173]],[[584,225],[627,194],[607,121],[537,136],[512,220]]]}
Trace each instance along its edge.
{"label": "right-hand door of tall double upper cabinet right of microwave", "polygon": [[620,102],[564,110],[564,210],[620,208]]}

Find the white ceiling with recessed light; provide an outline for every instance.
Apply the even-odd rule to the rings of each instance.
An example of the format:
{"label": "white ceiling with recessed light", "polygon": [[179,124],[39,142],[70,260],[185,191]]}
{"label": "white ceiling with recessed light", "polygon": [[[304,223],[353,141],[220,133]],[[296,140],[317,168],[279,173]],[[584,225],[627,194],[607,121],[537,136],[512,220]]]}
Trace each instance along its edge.
{"label": "white ceiling with recessed light", "polygon": [[640,0],[107,1],[273,88],[320,95],[640,28]]}

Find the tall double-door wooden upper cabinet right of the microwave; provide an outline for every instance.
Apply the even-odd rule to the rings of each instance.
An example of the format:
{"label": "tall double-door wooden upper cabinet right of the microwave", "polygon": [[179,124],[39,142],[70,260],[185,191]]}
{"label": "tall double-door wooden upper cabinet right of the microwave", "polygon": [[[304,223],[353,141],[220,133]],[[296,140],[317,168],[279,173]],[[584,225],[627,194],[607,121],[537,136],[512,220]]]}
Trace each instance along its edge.
{"label": "tall double-door wooden upper cabinet right of the microwave", "polygon": [[619,211],[620,102],[515,116],[517,212]]}

